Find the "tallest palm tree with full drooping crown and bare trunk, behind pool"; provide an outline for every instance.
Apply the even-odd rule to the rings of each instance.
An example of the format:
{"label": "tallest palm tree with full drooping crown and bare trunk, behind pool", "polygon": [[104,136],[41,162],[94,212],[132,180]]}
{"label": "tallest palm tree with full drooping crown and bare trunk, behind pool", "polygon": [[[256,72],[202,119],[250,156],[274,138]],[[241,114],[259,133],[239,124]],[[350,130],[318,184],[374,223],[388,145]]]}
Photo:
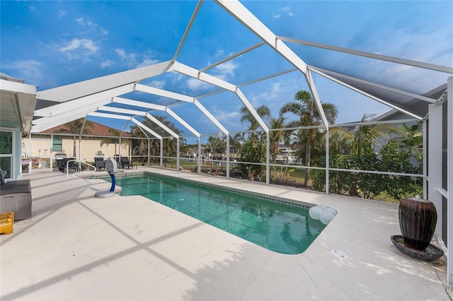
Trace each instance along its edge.
{"label": "tallest palm tree with full drooping crown and bare trunk, behind pool", "polygon": [[[338,109],[336,105],[331,103],[322,104],[324,114],[329,124],[335,123],[336,117],[338,116]],[[294,95],[294,101],[287,102],[280,109],[280,115],[290,112],[297,117],[298,120],[289,122],[288,127],[299,127],[299,126],[314,126],[321,123],[321,113],[316,106],[316,100],[311,98],[311,94],[308,91],[300,90]],[[316,129],[304,129],[298,131],[302,136],[299,136],[300,141],[305,143],[305,166],[310,167],[311,161],[311,146],[314,144],[314,139],[318,131]],[[307,187],[309,183],[309,170],[305,170],[304,185]]]}

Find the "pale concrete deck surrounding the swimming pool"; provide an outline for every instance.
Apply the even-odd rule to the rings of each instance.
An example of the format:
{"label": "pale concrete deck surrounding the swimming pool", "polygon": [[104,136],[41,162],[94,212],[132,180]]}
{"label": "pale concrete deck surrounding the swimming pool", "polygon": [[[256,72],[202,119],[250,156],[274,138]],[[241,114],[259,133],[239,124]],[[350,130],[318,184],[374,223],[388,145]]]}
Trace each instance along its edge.
{"label": "pale concrete deck surrounding the swimming pool", "polygon": [[418,261],[391,243],[401,233],[396,204],[144,170],[338,215],[306,252],[277,254],[142,196],[96,199],[110,188],[102,179],[23,175],[33,217],[0,235],[0,300],[452,300],[445,256]]}

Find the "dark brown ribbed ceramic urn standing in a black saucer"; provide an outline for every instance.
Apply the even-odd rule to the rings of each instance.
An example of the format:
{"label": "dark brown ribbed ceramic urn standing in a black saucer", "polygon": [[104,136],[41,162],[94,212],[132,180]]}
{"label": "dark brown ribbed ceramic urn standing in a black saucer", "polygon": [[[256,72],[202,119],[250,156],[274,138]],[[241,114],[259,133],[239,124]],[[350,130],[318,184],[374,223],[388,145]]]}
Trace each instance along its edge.
{"label": "dark brown ribbed ceramic urn standing in a black saucer", "polygon": [[434,235],[437,213],[431,201],[404,198],[399,203],[399,228],[407,247],[424,251]]}

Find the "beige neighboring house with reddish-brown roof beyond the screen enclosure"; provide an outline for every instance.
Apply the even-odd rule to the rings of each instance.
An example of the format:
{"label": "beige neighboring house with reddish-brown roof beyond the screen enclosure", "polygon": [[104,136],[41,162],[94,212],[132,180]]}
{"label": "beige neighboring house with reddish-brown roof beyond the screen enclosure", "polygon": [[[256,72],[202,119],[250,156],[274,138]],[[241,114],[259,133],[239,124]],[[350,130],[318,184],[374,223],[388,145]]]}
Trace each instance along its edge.
{"label": "beige neighboring house with reddish-brown roof beyond the screen enclosure", "polygon": [[[94,157],[110,158],[114,155],[130,156],[131,135],[127,132],[121,135],[121,147],[119,139],[112,134],[112,128],[91,122],[92,126],[85,126],[86,134],[81,136],[70,134],[66,124],[47,129],[40,134],[32,134],[31,140],[23,138],[22,157],[34,158],[33,167],[40,167],[42,158],[55,160],[56,157],[66,156],[87,162],[93,162]],[[117,131],[117,130],[115,130]],[[120,131],[117,131],[120,133]],[[74,136],[76,141],[76,153],[74,155]],[[103,142],[101,146],[101,142]],[[47,164],[46,166],[47,167]]]}

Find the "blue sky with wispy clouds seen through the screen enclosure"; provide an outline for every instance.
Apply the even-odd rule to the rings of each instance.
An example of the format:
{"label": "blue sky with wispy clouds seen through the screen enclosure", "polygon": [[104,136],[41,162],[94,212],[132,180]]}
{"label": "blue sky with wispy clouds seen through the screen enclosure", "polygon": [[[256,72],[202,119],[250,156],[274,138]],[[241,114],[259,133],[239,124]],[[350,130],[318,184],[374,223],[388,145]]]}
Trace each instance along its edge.
{"label": "blue sky with wispy clouds seen through the screen enclosure", "polygon": [[[453,1],[243,1],[273,33],[299,40],[453,66]],[[147,66],[173,58],[196,1],[1,1],[1,72],[37,85],[38,90]],[[178,61],[201,69],[260,42],[217,4],[205,1]],[[448,74],[377,62],[286,43],[308,64],[336,66],[353,76],[426,93]],[[234,84],[291,69],[269,47],[260,47],[207,73]],[[322,102],[337,105],[337,122],[389,107],[321,76],[315,76]],[[218,88],[167,73],[144,83],[197,97]],[[268,105],[274,117],[298,90],[308,90],[301,73],[247,85],[254,107]],[[171,103],[143,93],[130,98]],[[241,102],[232,93],[200,98],[229,131],[240,131]],[[193,105],[173,107],[202,133],[218,129]],[[289,119],[292,117],[289,116]],[[93,119],[123,129],[111,119]],[[173,121],[171,117],[168,120]],[[178,126],[178,123],[175,122]],[[183,129],[181,126],[180,129]],[[184,130],[184,129],[183,129]],[[187,130],[184,130],[188,134]]]}

